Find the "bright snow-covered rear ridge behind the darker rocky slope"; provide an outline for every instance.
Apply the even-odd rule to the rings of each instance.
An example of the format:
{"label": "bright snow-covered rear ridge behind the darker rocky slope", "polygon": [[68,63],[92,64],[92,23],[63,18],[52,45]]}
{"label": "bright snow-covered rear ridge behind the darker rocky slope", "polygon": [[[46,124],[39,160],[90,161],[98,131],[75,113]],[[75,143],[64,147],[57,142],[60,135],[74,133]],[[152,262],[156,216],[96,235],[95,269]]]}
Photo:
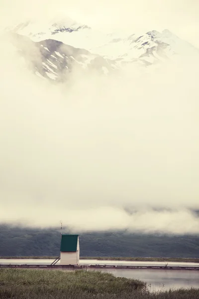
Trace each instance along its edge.
{"label": "bright snow-covered rear ridge behind the darker rocky slope", "polygon": [[161,62],[175,55],[199,55],[199,49],[182,40],[169,30],[158,32],[101,32],[91,27],[65,19],[40,23],[30,21],[13,27],[15,32],[34,41],[55,39],[75,48],[82,48],[117,62],[141,61],[144,65]]}

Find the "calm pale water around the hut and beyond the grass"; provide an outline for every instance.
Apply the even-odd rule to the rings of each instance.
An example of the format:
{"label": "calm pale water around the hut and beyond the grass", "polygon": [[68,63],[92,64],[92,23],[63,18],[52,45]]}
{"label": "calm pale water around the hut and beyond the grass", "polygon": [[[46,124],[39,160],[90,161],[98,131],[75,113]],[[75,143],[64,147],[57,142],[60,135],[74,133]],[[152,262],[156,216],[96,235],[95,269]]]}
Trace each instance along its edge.
{"label": "calm pale water around the hut and beyond the grass", "polygon": [[[1,265],[27,264],[50,265],[53,260],[0,260]],[[57,263],[58,265],[59,263]],[[98,261],[80,260],[82,265],[139,265],[139,266],[165,266],[164,262],[124,262],[124,261]],[[168,263],[168,266],[199,266],[196,263]],[[69,271],[69,270],[63,270]],[[70,270],[71,271],[71,270]],[[151,290],[168,290],[170,288],[199,288],[199,271],[192,270],[151,270],[151,269],[90,269],[114,274],[116,277],[134,278],[147,282]]]}

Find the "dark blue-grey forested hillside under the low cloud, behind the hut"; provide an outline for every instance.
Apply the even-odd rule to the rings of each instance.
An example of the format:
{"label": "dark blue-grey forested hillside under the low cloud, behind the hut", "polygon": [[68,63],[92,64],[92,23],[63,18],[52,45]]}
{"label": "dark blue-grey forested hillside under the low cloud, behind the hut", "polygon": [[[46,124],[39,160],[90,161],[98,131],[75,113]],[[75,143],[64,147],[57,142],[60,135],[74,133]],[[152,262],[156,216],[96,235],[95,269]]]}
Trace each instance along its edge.
{"label": "dark blue-grey forested hillside under the low cloud, behind the hut", "polygon": [[[56,229],[0,225],[0,256],[58,256],[59,249],[60,232]],[[82,257],[199,258],[199,236],[124,231],[81,233],[80,254]]]}

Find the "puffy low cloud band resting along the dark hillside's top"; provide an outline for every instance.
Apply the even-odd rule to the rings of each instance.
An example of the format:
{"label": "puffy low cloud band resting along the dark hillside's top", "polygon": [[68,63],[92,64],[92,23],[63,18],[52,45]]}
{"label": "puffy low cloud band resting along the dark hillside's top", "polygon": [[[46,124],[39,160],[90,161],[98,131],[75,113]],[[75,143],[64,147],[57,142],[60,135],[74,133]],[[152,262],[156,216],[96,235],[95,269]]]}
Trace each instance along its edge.
{"label": "puffy low cloud band resting along the dark hillside's top", "polygon": [[93,232],[127,230],[136,233],[198,234],[199,216],[186,209],[153,210],[140,209],[128,213],[116,206],[100,206],[87,209],[66,209],[51,204],[46,207],[15,206],[14,209],[2,207],[0,217],[4,223],[21,224],[32,227],[59,228],[59,219],[63,227],[71,232]]}

